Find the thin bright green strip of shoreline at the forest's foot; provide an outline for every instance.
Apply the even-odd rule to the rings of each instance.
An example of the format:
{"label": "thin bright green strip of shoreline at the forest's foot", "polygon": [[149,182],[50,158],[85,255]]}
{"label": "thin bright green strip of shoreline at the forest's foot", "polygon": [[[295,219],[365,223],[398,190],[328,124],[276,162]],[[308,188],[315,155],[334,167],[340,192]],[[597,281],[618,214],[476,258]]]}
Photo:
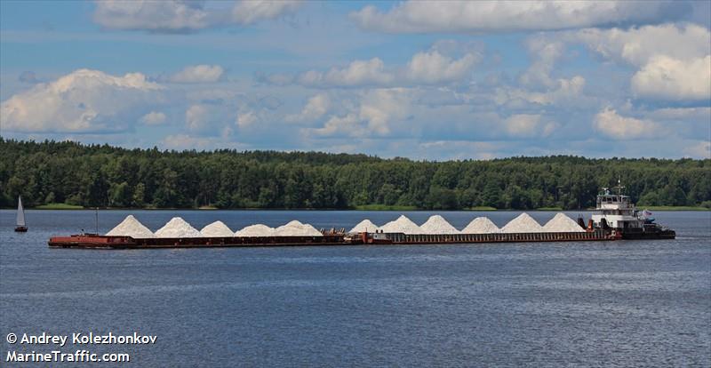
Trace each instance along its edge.
{"label": "thin bright green strip of shoreline at the forest's foot", "polygon": [[[7,207],[10,210],[13,207]],[[711,211],[711,208],[701,206],[685,206],[685,205],[650,205],[639,206],[640,210],[650,211]],[[75,204],[42,204],[36,207],[28,207],[31,210],[93,210],[93,207],[83,207]],[[386,204],[364,204],[357,205],[353,208],[218,208],[215,206],[201,206],[197,208],[156,208],[156,207],[101,207],[100,210],[156,210],[156,211],[214,211],[214,210],[235,210],[235,211],[539,211],[539,212],[562,212],[562,211],[594,211],[593,208],[585,210],[571,209],[563,210],[559,207],[542,207],[536,209],[518,209],[518,208],[494,208],[488,206],[469,207],[456,210],[443,209],[423,209],[408,205],[386,205]]]}

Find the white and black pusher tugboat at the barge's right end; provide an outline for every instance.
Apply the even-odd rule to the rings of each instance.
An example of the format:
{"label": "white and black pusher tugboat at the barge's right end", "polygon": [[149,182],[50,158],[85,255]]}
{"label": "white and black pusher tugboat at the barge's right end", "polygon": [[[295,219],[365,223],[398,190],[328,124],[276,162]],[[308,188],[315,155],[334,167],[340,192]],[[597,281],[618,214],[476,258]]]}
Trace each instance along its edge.
{"label": "white and black pusher tugboat at the barge's right end", "polygon": [[674,239],[676,232],[654,223],[648,217],[651,212],[640,212],[629,196],[622,194],[625,187],[613,187],[617,193],[611,193],[610,188],[603,188],[603,193],[597,196],[595,211],[592,216],[593,226],[610,230],[613,236],[621,239]]}

